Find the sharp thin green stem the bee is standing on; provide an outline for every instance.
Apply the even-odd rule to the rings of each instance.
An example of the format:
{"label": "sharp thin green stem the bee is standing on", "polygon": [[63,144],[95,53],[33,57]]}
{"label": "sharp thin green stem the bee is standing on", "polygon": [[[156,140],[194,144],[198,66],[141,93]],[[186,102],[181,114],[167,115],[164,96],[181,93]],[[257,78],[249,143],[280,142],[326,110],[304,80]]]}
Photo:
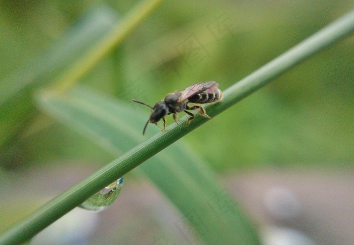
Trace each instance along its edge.
{"label": "sharp thin green stem the bee is standing on", "polygon": [[[353,31],[354,12],[351,12],[227,89],[223,102],[207,107],[208,114],[215,116],[222,113],[248,94],[267,84],[271,79]],[[0,244],[19,243],[29,239],[82,203],[87,197],[136,168],[171,143],[205,123],[207,119],[197,117],[191,123],[189,130],[185,129],[185,121],[186,118],[181,121],[180,125],[171,125],[165,132],[155,134],[90,177],[58,195],[11,227],[0,237]]]}

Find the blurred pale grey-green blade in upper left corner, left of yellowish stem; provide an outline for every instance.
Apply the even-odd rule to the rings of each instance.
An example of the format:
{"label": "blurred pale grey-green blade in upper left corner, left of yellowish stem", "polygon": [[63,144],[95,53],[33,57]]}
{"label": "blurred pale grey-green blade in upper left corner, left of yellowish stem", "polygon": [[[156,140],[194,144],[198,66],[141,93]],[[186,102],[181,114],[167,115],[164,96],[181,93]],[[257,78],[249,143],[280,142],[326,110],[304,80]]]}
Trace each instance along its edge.
{"label": "blurred pale grey-green blade in upper left corner, left of yellowish stem", "polygon": [[48,83],[51,77],[68,69],[85,50],[97,44],[116,23],[116,12],[107,6],[88,12],[41,59],[1,81],[0,104],[14,99],[18,93],[25,93],[26,89]]}

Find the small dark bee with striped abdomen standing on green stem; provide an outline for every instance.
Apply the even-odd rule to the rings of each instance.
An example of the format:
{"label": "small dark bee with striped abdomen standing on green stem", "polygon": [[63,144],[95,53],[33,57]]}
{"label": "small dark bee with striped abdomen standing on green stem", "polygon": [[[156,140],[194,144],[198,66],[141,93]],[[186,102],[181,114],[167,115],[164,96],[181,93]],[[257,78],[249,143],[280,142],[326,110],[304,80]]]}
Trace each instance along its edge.
{"label": "small dark bee with striped abdomen standing on green stem", "polygon": [[195,104],[207,104],[213,102],[219,102],[223,99],[223,93],[218,89],[218,83],[215,81],[200,82],[190,85],[184,90],[176,91],[173,93],[168,93],[162,101],[157,102],[154,107],[145,104],[144,102],[132,100],[133,102],[148,106],[151,108],[151,115],[149,120],[146,122],[143,135],[145,134],[146,127],[149,122],[157,125],[157,122],[162,118],[163,120],[163,130],[166,129],[166,115],[173,115],[173,120],[177,123],[178,112],[185,112],[191,117],[188,118],[186,126],[188,129],[188,124],[192,121],[195,116],[193,113],[187,110],[199,109],[199,114],[205,118],[211,119],[211,117],[206,114],[204,107],[194,105],[189,107],[188,103]]}

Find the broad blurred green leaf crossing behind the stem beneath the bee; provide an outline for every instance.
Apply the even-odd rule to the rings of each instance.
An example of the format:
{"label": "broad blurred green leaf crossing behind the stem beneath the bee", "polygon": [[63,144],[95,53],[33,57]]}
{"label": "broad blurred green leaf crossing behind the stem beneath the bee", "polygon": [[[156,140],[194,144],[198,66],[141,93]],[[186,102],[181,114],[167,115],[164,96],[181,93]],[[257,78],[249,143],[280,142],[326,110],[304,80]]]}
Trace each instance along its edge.
{"label": "broad blurred green leaf crossing behind the stem beneath the bee", "polygon": [[[40,106],[116,156],[147,137],[142,135],[146,110],[137,113],[134,108],[139,106],[133,103],[118,104],[83,88],[65,96],[47,97]],[[152,131],[159,129],[150,128],[148,134]],[[169,146],[139,169],[184,214],[204,241],[256,244],[249,222],[219,186],[217,176],[184,143]]]}

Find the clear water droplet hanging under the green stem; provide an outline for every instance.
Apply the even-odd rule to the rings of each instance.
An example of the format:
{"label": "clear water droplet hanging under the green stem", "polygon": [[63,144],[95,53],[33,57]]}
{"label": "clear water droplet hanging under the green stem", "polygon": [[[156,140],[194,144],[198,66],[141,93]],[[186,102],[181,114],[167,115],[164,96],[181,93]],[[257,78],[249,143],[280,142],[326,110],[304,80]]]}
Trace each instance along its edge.
{"label": "clear water droplet hanging under the green stem", "polygon": [[100,192],[94,194],[91,198],[83,202],[79,207],[100,212],[110,206],[118,197],[120,189],[122,188],[123,177],[114,181]]}

